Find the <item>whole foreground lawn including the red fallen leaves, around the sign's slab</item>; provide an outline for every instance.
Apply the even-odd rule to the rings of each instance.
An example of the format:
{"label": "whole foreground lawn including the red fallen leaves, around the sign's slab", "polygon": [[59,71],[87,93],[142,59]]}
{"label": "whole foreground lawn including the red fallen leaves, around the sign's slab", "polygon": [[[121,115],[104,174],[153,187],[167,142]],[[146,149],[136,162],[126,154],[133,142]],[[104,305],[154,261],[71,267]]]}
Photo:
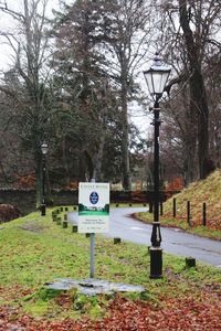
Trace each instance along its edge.
{"label": "whole foreground lawn including the red fallen leaves, around the sign's slab", "polygon": [[[63,217],[63,215],[62,215]],[[95,276],[145,292],[86,297],[50,290],[56,278],[88,278],[90,239],[39,213],[0,226],[0,330],[221,330],[221,273],[164,254],[164,278],[149,279],[147,247],[96,236]]]}

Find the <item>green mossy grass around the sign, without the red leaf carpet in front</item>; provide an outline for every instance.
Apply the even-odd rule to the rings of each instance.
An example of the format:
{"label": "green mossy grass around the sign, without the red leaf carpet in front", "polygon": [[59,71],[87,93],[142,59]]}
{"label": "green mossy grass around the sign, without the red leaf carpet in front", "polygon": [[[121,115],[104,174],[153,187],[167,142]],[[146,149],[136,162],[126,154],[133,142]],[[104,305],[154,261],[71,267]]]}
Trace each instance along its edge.
{"label": "green mossy grass around the sign, without the red leaf carpet in front", "polygon": [[[21,313],[34,317],[92,318],[105,312],[108,296],[87,298],[75,290],[69,292],[71,303],[65,309],[57,303],[64,292],[45,289],[55,278],[74,279],[90,276],[90,239],[72,233],[46,216],[32,213],[1,224],[0,229],[0,305],[19,307]],[[164,254],[164,278],[149,279],[149,255],[146,246],[122,243],[102,235],[95,238],[95,278],[143,285],[141,299],[160,305],[161,297],[196,295],[210,285],[221,285],[220,270],[201,264],[186,269],[185,258]],[[137,298],[139,295],[127,295]]]}

